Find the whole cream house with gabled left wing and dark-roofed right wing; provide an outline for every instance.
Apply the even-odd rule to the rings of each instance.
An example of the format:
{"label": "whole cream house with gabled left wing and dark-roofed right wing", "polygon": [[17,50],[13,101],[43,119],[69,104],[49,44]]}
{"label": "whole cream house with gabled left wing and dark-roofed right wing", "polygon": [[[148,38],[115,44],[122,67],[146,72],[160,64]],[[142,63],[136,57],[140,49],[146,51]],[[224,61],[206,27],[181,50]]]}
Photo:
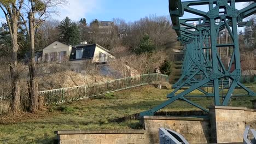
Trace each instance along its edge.
{"label": "whole cream house with gabled left wing and dark-roofed right wing", "polygon": [[81,41],[80,45],[67,45],[60,41],[54,41],[43,49],[43,62],[61,63],[67,62],[70,69],[81,72],[84,69],[84,63],[102,64],[110,61],[114,56],[104,47],[98,44],[88,44],[87,41]]}

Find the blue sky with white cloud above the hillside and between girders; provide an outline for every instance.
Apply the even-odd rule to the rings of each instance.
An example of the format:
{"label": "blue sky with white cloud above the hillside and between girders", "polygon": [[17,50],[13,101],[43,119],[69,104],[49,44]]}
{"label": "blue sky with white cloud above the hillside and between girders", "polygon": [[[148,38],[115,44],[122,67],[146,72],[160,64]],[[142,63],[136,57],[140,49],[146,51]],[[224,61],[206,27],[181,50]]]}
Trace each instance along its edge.
{"label": "blue sky with white cloud above the hillside and between girders", "polygon": [[[237,4],[237,9],[244,5]],[[201,6],[198,9],[207,10],[207,7]],[[59,7],[59,11],[59,15],[53,16],[53,19],[63,20],[68,16],[73,21],[86,18],[91,22],[95,19],[112,21],[119,17],[126,22],[132,22],[149,15],[169,16],[168,0],[68,0],[68,4]],[[191,17],[197,16],[184,13],[184,19]]]}

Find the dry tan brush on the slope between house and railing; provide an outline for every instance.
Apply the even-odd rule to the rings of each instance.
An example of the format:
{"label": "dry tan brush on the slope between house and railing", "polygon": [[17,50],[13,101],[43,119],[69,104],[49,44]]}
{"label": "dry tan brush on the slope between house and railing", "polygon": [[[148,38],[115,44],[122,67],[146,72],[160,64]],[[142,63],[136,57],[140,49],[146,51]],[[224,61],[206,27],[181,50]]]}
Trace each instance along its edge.
{"label": "dry tan brush on the slope between house and railing", "polygon": [[68,64],[48,64],[41,68],[44,74],[37,77],[39,83],[39,91],[49,89],[58,89],[65,87],[74,87],[88,85],[91,83],[102,82],[108,80],[100,75],[98,65],[91,62],[84,62],[82,65],[83,73],[76,73],[69,70]]}

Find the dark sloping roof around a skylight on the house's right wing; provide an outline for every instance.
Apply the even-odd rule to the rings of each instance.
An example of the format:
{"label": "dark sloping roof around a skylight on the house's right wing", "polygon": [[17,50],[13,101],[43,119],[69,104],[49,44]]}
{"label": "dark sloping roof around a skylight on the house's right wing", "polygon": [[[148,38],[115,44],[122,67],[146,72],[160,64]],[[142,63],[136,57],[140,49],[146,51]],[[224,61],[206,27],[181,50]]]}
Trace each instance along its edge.
{"label": "dark sloping roof around a skylight on the house's right wing", "polygon": [[[81,59],[92,59],[94,58],[94,52],[96,49],[96,44],[86,44],[86,45],[77,45],[72,47],[70,61],[76,61]],[[75,58],[75,53],[77,50],[83,50],[83,56],[80,59]]]}

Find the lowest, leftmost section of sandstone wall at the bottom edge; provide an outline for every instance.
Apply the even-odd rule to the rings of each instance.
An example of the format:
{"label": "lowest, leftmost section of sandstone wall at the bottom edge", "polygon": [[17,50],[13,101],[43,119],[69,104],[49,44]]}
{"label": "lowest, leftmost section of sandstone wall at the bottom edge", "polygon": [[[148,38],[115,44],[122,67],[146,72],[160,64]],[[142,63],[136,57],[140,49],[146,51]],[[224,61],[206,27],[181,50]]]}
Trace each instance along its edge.
{"label": "lowest, leftmost section of sandstone wall at the bottom edge", "polygon": [[55,131],[60,144],[146,144],[145,130]]}

